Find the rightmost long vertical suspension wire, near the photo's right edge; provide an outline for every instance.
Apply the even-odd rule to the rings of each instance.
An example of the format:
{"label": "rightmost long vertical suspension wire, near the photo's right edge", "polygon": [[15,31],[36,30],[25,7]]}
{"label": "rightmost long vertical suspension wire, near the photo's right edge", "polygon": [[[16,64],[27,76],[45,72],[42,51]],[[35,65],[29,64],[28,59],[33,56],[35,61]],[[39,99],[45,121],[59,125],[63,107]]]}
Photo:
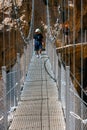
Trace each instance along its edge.
{"label": "rightmost long vertical suspension wire, near the photo's right edge", "polygon": [[[83,99],[83,0],[81,0],[81,99]],[[81,118],[83,119],[83,104],[81,103]],[[83,124],[81,123],[81,130]]]}

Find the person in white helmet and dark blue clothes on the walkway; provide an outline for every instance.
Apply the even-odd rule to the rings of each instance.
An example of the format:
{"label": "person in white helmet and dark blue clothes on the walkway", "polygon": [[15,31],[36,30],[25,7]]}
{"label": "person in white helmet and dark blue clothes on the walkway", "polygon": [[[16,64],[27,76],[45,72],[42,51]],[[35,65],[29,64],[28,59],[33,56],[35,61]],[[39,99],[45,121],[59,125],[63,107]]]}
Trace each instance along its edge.
{"label": "person in white helmet and dark blue clothes on the walkway", "polygon": [[43,35],[41,33],[41,30],[37,28],[35,30],[35,34],[33,37],[33,44],[34,44],[34,50],[36,56],[41,58],[41,52],[42,52],[42,42],[43,42]]}

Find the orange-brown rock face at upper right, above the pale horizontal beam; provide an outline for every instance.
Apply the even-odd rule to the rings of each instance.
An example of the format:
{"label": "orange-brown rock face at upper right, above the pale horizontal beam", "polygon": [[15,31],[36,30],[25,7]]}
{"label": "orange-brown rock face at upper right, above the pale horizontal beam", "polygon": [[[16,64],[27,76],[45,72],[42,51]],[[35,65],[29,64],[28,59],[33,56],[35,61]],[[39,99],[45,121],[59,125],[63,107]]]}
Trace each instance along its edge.
{"label": "orange-brown rock face at upper right, above the pale horizontal beam", "polygon": [[[62,1],[62,4],[61,4]],[[61,13],[63,14],[63,24],[68,23],[71,34],[75,33],[76,42],[81,42],[81,30],[83,31],[83,41],[87,30],[87,1],[86,0],[59,0]],[[71,37],[73,41],[73,37]]]}

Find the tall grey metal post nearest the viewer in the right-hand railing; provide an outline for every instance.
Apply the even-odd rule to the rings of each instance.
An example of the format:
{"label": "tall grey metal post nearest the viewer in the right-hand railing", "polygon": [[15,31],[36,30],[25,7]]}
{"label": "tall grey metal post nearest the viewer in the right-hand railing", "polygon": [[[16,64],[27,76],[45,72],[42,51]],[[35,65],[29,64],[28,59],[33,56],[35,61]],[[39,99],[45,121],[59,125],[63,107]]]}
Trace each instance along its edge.
{"label": "tall grey metal post nearest the viewer in the right-hand railing", "polygon": [[70,81],[70,67],[66,66],[66,130],[70,130],[70,127],[69,127],[69,105],[70,105],[69,81]]}

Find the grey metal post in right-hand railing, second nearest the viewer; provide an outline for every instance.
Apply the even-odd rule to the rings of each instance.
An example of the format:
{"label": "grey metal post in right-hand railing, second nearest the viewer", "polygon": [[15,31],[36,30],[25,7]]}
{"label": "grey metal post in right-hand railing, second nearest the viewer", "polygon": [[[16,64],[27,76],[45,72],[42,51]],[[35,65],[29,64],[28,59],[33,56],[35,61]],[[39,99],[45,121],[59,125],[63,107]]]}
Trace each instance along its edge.
{"label": "grey metal post in right-hand railing, second nearest the viewer", "polygon": [[59,100],[61,101],[61,60],[60,60],[60,53],[58,54],[58,84],[59,84]]}

